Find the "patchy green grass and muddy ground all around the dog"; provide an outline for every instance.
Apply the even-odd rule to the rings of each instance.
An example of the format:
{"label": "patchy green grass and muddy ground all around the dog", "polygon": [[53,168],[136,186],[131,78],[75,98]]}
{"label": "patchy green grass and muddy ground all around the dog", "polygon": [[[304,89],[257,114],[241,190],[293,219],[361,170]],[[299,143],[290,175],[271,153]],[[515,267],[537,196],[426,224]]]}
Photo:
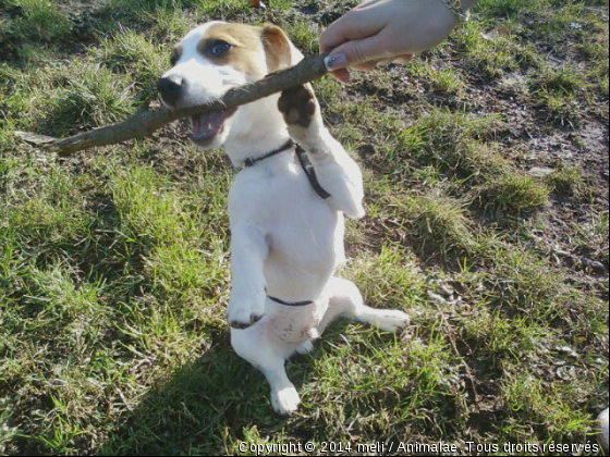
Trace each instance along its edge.
{"label": "patchy green grass and muddy ground all around the dog", "polygon": [[607,2],[480,0],[408,65],[315,84],[365,175],[340,273],[413,325],[329,328],[286,366],[303,399],[291,418],[230,347],[224,155],[179,126],[68,159],[14,137],[123,119],[200,21],[274,22],[315,53],[322,17],[357,2],[270,3],[0,0],[0,454],[594,443],[608,402]]}

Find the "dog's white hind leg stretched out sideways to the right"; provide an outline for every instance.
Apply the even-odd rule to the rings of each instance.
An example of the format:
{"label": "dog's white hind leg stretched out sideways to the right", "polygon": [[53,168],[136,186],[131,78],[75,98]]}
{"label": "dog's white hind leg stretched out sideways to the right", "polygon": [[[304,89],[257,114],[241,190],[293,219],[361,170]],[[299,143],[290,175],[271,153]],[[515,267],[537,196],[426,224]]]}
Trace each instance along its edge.
{"label": "dog's white hind leg stretched out sideways to the right", "polygon": [[326,326],[338,317],[352,318],[378,326],[386,332],[398,332],[411,322],[407,313],[394,309],[376,309],[366,306],[356,285],[341,277],[332,277],[327,286],[330,302],[320,325],[321,334]]}

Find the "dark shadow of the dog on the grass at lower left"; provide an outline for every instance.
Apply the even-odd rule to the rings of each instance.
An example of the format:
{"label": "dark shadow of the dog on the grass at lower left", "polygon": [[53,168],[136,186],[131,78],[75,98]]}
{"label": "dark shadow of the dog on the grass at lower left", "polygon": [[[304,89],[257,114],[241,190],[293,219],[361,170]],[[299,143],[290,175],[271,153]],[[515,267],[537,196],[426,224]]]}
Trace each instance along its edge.
{"label": "dark shadow of the dog on the grass at lower left", "polygon": [[[255,424],[281,424],[261,374],[241,360],[229,335],[146,394],[111,433],[101,455],[220,455],[229,435]],[[280,425],[281,427],[281,425]]]}

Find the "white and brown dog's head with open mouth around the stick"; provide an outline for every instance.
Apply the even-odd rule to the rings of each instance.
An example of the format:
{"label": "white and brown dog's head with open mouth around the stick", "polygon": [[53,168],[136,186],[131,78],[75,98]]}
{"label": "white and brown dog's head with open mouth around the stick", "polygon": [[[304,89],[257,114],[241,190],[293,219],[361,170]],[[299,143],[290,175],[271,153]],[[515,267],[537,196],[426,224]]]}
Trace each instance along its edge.
{"label": "white and brown dog's head with open mouth around the stick", "polygon": [[[209,22],[191,30],[174,48],[172,67],[159,79],[162,102],[186,108],[216,100],[229,89],[294,65],[303,58],[281,28]],[[193,141],[222,146],[240,124],[244,107],[192,116]]]}

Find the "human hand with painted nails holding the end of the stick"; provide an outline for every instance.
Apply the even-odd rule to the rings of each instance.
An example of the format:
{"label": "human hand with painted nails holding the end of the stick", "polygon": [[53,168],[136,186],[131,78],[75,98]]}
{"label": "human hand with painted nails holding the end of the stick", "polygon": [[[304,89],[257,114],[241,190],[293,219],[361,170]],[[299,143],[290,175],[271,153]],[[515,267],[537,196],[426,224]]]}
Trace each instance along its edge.
{"label": "human hand with painted nails holding the end of the stick", "polygon": [[457,17],[441,0],[370,0],[332,23],[320,37],[320,53],[344,83],[347,66],[373,70],[383,63],[406,63],[415,52],[446,39]]}

